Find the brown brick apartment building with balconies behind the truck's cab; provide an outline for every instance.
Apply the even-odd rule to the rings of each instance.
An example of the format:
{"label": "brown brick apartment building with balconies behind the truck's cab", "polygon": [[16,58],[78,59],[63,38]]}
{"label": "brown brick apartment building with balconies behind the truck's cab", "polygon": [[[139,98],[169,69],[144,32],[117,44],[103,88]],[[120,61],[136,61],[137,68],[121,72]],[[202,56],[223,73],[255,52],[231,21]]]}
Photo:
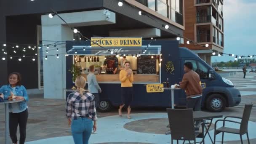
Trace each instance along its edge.
{"label": "brown brick apartment building with balconies behind the truck's cab", "polygon": [[187,44],[186,39],[182,46],[195,51],[211,65],[212,52],[218,55],[224,49],[223,0],[185,0],[184,7],[184,37],[209,47]]}

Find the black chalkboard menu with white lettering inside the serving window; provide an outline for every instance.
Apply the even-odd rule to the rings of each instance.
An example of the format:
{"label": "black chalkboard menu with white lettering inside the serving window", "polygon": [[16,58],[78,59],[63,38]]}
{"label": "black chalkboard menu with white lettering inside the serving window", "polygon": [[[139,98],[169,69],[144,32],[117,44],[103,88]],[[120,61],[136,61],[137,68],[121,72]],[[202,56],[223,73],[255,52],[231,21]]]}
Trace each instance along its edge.
{"label": "black chalkboard menu with white lettering inside the serving window", "polygon": [[137,58],[137,74],[156,74],[157,59],[156,56],[151,58],[151,56],[139,56]]}

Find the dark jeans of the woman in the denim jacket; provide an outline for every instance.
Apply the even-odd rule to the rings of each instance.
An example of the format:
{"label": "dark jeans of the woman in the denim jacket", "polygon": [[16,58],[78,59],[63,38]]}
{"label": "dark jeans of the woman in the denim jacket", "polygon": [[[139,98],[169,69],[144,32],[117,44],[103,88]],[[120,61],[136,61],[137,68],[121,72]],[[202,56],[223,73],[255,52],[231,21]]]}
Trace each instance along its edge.
{"label": "dark jeans of the woman in the denim jacket", "polygon": [[29,116],[28,110],[26,109],[20,113],[9,113],[9,131],[10,137],[13,143],[18,141],[17,139],[17,128],[19,124],[19,144],[24,144],[26,139],[26,127],[27,127],[27,118]]}

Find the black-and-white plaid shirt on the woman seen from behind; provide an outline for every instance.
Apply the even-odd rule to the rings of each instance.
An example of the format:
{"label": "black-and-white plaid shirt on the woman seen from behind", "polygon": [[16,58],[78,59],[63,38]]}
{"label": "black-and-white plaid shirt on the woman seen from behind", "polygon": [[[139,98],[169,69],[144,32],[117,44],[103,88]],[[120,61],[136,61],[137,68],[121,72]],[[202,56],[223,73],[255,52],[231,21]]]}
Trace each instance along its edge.
{"label": "black-and-white plaid shirt on the woman seen from behind", "polygon": [[88,91],[83,95],[77,91],[70,93],[67,98],[66,112],[68,118],[87,117],[93,121],[97,120],[94,96]]}

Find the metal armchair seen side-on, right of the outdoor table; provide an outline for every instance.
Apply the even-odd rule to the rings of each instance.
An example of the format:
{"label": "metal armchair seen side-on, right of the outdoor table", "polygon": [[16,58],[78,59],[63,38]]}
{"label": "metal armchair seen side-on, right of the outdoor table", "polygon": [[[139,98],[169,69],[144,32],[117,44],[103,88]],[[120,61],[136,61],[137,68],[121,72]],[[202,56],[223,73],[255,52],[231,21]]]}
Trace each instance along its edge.
{"label": "metal armchair seen side-on, right of the outdoor table", "polygon": [[[247,139],[248,139],[248,144],[250,144],[249,136],[248,136],[248,121],[250,118],[252,107],[253,107],[252,104],[245,104],[245,108],[243,110],[243,117],[228,116],[228,117],[233,117],[233,118],[239,118],[239,119],[241,119],[241,122],[237,122],[237,121],[233,121],[233,120],[226,120],[226,118],[228,118],[228,117],[224,117],[224,120],[217,120],[215,122],[215,127],[214,127],[214,144],[215,144],[216,135],[221,132],[222,132],[221,144],[223,144],[224,133],[239,134],[241,144],[243,144],[242,135],[244,135],[246,133]],[[221,128],[216,129],[216,125],[219,121],[223,121],[223,126]],[[238,123],[238,124],[240,124],[240,129],[225,127],[225,122]]]}

